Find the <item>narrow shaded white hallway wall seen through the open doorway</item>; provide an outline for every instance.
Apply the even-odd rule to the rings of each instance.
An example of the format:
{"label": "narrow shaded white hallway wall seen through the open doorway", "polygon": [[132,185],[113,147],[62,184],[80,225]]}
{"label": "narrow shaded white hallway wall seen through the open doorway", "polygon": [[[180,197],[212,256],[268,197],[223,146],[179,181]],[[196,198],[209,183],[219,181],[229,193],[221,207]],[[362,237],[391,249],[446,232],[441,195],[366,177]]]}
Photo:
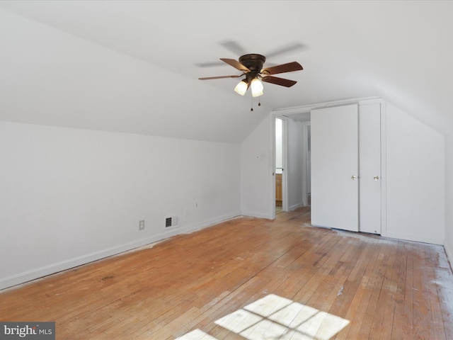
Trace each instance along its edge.
{"label": "narrow shaded white hallway wall seen through the open doorway", "polygon": [[292,119],[287,120],[287,190],[288,210],[302,207],[303,185],[303,124]]}

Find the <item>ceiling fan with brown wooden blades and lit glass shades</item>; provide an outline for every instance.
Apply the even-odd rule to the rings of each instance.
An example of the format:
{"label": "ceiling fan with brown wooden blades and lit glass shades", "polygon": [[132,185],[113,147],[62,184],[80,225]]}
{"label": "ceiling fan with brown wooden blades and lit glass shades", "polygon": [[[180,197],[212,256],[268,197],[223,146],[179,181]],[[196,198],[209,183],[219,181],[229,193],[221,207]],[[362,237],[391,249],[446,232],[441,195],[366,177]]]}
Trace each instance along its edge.
{"label": "ceiling fan with brown wooden blades and lit glass shades", "polygon": [[239,69],[239,71],[242,71],[243,73],[240,75],[203,77],[198,79],[209,80],[222,78],[239,78],[245,76],[244,79],[239,81],[239,84],[237,84],[236,88],[234,89],[234,91],[236,91],[236,93],[240,94],[241,96],[246,94],[246,91],[249,87],[251,87],[253,97],[261,96],[263,94],[263,83],[261,81],[280,86],[291,87],[296,84],[297,81],[273,77],[271,74],[293,72],[303,69],[302,65],[298,62],[288,62],[287,64],[265,67],[263,69],[266,58],[263,55],[257,54],[243,55],[239,57],[239,61],[227,58],[220,58],[220,60],[222,60],[222,62],[226,62],[226,64],[229,64],[235,69]]}

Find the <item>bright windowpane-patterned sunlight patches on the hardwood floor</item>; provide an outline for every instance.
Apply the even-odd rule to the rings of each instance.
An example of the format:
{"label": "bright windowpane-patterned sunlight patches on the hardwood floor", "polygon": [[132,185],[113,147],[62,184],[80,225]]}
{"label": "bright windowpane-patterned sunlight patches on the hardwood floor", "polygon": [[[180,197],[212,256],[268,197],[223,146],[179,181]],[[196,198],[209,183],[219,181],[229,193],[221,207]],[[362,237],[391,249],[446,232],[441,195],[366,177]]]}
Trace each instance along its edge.
{"label": "bright windowpane-patterned sunlight patches on the hardwood floor", "polygon": [[[270,294],[218,319],[215,324],[247,340],[328,340],[346,327],[349,321],[285,297]],[[201,332],[200,337],[185,337],[195,331]],[[195,331],[178,339],[215,339],[199,329]],[[202,335],[209,337],[201,337]]]}

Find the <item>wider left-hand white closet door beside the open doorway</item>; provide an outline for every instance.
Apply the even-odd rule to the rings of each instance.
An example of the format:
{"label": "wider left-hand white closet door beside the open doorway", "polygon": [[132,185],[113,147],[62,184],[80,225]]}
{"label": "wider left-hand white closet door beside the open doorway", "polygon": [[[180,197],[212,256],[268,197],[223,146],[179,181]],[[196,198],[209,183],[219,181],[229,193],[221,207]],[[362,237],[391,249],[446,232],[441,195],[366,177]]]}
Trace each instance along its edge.
{"label": "wider left-hand white closet door beside the open doorway", "polygon": [[311,224],[357,232],[357,105],[311,111]]}

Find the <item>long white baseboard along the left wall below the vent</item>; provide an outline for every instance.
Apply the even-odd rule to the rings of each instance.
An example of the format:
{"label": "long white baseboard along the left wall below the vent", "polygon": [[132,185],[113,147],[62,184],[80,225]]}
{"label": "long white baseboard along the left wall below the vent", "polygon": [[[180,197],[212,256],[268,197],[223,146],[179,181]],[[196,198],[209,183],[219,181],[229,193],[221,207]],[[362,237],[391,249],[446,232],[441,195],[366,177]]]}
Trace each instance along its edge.
{"label": "long white baseboard along the left wall below the vent", "polygon": [[21,273],[14,274],[12,276],[0,278],[0,290],[3,290],[5,288],[11,288],[15,285],[20,285],[22,283],[27,283],[31,280],[36,280],[36,279],[42,278],[44,276],[49,276],[49,275],[52,275],[55,273],[59,273],[60,271],[66,271],[70,268],[81,266],[86,263],[105,259],[106,257],[109,257],[109,256],[121,254],[125,251],[130,251],[132,249],[136,249],[141,246],[146,246],[147,244],[159,242],[163,239],[167,239],[168,237],[173,237],[177,234],[186,234],[189,232],[194,232],[199,229],[203,229],[205,227],[210,227],[219,222],[229,220],[229,219],[237,217],[239,215],[241,215],[240,212],[236,212],[236,213],[231,213],[228,215],[222,215],[219,217],[215,217],[210,220],[206,220],[204,222],[195,223],[193,225],[188,225],[186,227],[171,228],[171,229],[166,230],[165,232],[162,232],[160,234],[155,234],[151,237],[147,237],[144,239],[138,239],[136,241],[128,242],[126,244],[120,244],[120,245],[114,246],[112,248],[103,249],[101,251],[95,251],[91,254],[85,254],[82,256],[77,256],[73,259],[59,261],[56,263],[50,263],[47,266],[42,266],[40,268],[34,268],[34,269],[31,269],[30,271],[23,271]]}

